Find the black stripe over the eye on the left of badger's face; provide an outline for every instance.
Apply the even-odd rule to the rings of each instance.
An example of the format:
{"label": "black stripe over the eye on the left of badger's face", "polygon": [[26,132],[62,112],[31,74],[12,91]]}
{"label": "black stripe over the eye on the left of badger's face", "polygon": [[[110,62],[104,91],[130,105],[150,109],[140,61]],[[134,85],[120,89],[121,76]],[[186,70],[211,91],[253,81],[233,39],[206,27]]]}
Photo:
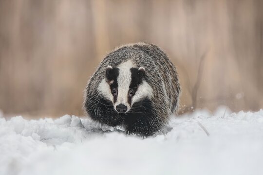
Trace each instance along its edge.
{"label": "black stripe over the eye on the left of badger's face", "polygon": [[106,70],[106,81],[110,84],[111,92],[113,92],[113,88],[116,89],[117,95],[113,96],[113,103],[117,101],[118,97],[118,82],[117,77],[119,76],[119,69],[113,68],[113,69],[107,69]]}

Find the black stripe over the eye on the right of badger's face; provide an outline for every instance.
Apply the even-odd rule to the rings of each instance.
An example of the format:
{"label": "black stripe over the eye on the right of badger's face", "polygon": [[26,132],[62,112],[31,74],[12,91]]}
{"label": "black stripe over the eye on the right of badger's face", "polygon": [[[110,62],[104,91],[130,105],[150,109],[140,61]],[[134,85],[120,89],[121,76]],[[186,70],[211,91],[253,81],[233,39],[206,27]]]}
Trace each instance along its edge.
{"label": "black stripe over the eye on the right of badger's face", "polygon": [[[137,68],[131,68],[131,84],[130,89],[134,90],[134,94],[137,91],[138,86],[142,83],[145,72],[143,70],[138,70]],[[131,105],[131,96],[129,95],[130,91],[128,92],[128,103]]]}

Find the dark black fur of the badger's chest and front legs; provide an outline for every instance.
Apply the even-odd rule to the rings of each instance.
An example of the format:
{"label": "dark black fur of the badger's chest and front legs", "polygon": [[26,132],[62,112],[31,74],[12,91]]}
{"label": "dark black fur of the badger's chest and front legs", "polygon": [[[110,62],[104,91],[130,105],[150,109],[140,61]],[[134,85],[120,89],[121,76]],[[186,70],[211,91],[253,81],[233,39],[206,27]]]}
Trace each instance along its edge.
{"label": "dark black fur of the badger's chest and front legs", "polygon": [[154,112],[150,100],[145,99],[132,105],[128,113],[117,113],[112,102],[97,98],[97,104],[89,105],[86,109],[92,119],[110,126],[123,125],[127,134],[149,136],[160,129],[158,116]]}

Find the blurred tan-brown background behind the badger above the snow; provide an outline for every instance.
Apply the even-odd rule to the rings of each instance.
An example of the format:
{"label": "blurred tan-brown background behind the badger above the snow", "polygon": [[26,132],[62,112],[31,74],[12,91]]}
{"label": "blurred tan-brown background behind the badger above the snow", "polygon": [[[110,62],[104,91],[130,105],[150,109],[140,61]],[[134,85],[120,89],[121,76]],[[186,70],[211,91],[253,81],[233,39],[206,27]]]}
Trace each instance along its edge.
{"label": "blurred tan-brown background behind the badger above the snow", "polygon": [[179,114],[263,108],[263,0],[0,0],[4,115],[83,115],[83,90],[114,47],[165,50]]}

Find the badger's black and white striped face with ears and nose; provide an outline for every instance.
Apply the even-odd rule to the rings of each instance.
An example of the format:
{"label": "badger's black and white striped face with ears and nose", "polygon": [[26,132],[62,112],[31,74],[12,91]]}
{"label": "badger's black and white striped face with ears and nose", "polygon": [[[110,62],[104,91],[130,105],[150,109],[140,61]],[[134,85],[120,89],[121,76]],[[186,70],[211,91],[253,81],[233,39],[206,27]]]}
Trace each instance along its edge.
{"label": "badger's black and white striped face with ears and nose", "polygon": [[108,66],[105,78],[98,87],[99,92],[113,102],[118,113],[126,113],[135,102],[151,97],[152,89],[145,81],[145,69],[133,66],[131,62],[114,68]]}

